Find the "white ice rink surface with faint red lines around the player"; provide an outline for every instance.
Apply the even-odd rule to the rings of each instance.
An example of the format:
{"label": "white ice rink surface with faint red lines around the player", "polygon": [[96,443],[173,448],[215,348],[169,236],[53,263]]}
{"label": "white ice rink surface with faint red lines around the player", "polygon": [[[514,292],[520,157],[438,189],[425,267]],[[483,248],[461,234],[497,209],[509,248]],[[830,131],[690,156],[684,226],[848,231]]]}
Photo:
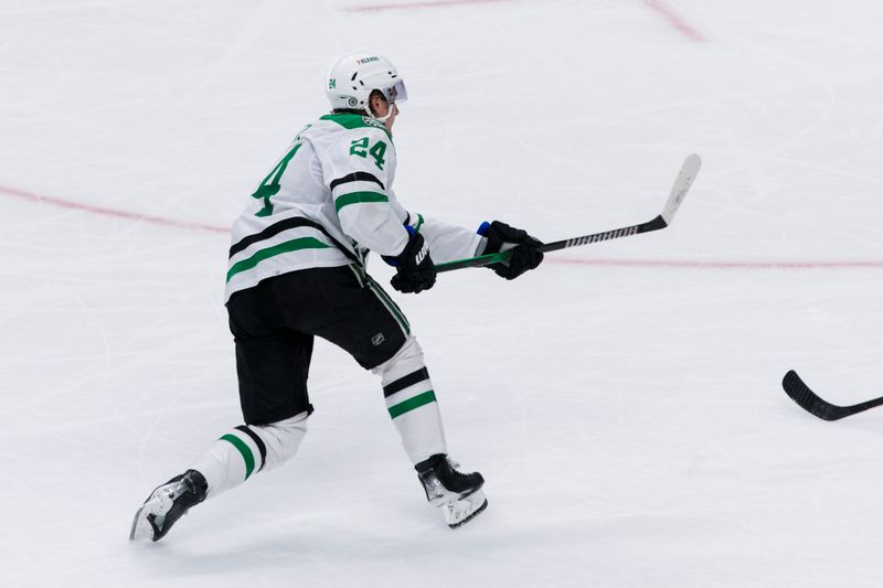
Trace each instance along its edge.
{"label": "white ice rink surface with faint red lines around the player", "polygon": [[[389,2],[389,3],[385,3]],[[554,240],[396,295],[488,511],[425,503],[318,343],[283,470],[128,526],[241,423],[226,228],[340,54],[407,82],[396,193]],[[883,3],[0,1],[0,585],[858,587],[883,578]],[[389,268],[374,259],[383,281]]]}

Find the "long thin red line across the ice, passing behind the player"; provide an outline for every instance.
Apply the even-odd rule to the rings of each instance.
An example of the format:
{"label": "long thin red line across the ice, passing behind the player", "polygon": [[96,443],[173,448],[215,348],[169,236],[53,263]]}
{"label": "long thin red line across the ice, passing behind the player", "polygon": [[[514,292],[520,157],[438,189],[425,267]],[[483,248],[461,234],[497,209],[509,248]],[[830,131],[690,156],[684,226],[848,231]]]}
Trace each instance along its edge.
{"label": "long thin red line across the ice, passing behind the player", "polygon": [[[209,233],[223,233],[230,232],[228,228],[214,225],[204,225],[201,223],[191,223],[189,221],[175,221],[173,218],[163,218],[161,216],[150,216],[140,213],[128,211],[120,211],[116,209],[106,209],[103,206],[94,206],[92,204],[83,204],[79,202],[72,202],[68,200],[56,199],[51,196],[43,196],[14,188],[0,185],[0,194],[20,197],[38,204],[50,204],[52,206],[60,206],[62,209],[72,209],[75,211],[83,211],[92,214],[103,216],[113,216],[116,218],[129,218],[140,223],[149,223],[152,225],[171,226],[174,228],[185,228],[189,231],[206,231]],[[678,259],[568,259],[568,258],[546,258],[549,263],[556,265],[574,265],[574,266],[611,266],[611,267],[670,267],[670,268],[694,268],[694,269],[855,269],[855,268],[883,268],[883,260],[874,261],[689,261]]]}

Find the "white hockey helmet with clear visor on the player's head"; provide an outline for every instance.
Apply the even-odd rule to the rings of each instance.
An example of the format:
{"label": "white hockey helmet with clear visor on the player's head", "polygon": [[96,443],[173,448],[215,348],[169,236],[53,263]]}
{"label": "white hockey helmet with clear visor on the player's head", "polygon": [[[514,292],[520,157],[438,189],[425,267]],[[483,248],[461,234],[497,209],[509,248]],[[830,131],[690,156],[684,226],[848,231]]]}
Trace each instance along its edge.
{"label": "white hockey helmet with clear visor on the player's head", "polygon": [[390,60],[373,53],[354,53],[331,66],[325,93],[332,109],[352,108],[372,114],[368,99],[375,89],[390,104],[407,99],[405,83]]}

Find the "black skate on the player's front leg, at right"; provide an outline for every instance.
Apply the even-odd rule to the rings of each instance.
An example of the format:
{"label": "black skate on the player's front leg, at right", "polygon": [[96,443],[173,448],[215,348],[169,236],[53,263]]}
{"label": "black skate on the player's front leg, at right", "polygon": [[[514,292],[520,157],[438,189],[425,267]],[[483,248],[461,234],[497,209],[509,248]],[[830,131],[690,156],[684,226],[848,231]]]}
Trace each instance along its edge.
{"label": "black skate on the player's front leg, at right", "polygon": [[450,528],[471,521],[488,506],[488,499],[481,491],[485,479],[478,472],[459,472],[458,467],[459,463],[444,453],[436,453],[414,467],[426,491],[426,500],[442,507]]}

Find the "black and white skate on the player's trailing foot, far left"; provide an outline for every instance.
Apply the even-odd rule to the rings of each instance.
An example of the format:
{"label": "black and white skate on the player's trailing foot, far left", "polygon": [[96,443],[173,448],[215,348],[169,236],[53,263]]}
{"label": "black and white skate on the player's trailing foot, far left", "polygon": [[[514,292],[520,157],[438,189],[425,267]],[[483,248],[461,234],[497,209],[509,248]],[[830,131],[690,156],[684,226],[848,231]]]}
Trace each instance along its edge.
{"label": "black and white skate on the player's trailing foot, far left", "polygon": [[159,541],[191,506],[205,500],[209,484],[196,470],[188,470],[157,488],[131,523],[129,539]]}

